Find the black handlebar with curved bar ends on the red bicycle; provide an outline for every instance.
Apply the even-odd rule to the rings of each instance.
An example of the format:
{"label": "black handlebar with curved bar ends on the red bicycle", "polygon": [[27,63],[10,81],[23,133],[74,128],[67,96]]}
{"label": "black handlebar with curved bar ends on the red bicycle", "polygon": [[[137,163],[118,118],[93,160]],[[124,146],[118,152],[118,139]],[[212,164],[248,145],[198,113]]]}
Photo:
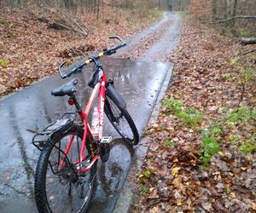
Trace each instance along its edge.
{"label": "black handlebar with curved bar ends on the red bicycle", "polygon": [[126,45],[125,41],[119,36],[110,36],[109,39],[118,39],[120,41],[120,44],[115,46],[115,47],[110,47],[110,48],[107,48],[107,49],[103,49],[103,52],[101,52],[99,54],[90,55],[88,57],[88,60],[85,60],[84,62],[80,63],[79,65],[73,67],[73,69],[71,69],[70,71],[68,71],[65,74],[62,71],[62,67],[65,66],[67,61],[62,61],[60,66],[58,67],[61,78],[68,78],[74,73],[82,72],[82,69],[85,65],[89,65],[91,62],[96,63],[96,60],[98,60],[99,58],[101,58],[105,55],[113,55],[113,54],[116,53],[117,49],[120,49],[120,48],[122,48]]}

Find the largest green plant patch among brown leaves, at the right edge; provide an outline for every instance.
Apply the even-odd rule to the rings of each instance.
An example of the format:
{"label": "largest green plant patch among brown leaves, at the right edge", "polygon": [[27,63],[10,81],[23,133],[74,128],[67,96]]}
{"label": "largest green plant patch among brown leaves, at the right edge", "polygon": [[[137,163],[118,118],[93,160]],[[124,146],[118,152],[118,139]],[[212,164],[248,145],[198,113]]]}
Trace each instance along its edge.
{"label": "largest green plant patch among brown leaves, at the right edge", "polygon": [[[255,135],[250,133],[250,126],[255,124],[256,110],[252,107],[242,106],[235,109],[224,108],[217,120],[209,121],[211,124],[201,130],[201,168],[207,166],[214,154],[220,151],[220,144],[230,144],[243,154],[256,151]],[[247,131],[247,134],[244,132]],[[234,135],[233,132],[236,132]],[[230,135],[230,141],[224,139]]]}

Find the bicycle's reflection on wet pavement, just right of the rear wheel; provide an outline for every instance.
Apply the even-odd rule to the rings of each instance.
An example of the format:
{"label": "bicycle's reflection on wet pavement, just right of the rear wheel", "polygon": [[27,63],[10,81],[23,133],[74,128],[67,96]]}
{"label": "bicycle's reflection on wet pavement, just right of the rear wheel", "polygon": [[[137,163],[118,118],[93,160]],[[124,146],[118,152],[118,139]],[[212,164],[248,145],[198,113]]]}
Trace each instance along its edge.
{"label": "bicycle's reflection on wet pavement, just right of the rear wheel", "polygon": [[[121,138],[111,142],[108,162],[98,164],[94,198],[89,212],[111,212],[128,176],[135,150]],[[106,204],[108,203],[108,209]]]}

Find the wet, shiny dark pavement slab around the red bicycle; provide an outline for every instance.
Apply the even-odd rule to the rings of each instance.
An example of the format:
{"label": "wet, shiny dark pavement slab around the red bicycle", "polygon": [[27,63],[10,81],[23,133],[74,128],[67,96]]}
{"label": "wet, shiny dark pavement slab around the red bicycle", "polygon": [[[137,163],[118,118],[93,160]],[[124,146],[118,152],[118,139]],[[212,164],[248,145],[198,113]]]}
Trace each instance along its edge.
{"label": "wet, shiny dark pavement slab around the red bicycle", "polygon": [[[158,95],[169,65],[124,59],[104,60],[108,78],[124,96],[141,133]],[[73,78],[79,79],[78,100],[87,101],[91,89],[86,85],[91,69]],[[59,75],[45,78],[15,95],[0,100],[0,210],[1,212],[37,212],[33,200],[33,180],[39,151],[32,146],[32,133],[60,118],[63,112],[74,112],[67,97],[53,97],[50,90],[67,82]],[[118,135],[113,126],[104,126],[104,135]],[[124,141],[115,140],[110,159],[98,164],[95,198],[90,212],[111,212],[128,174],[133,149]]]}

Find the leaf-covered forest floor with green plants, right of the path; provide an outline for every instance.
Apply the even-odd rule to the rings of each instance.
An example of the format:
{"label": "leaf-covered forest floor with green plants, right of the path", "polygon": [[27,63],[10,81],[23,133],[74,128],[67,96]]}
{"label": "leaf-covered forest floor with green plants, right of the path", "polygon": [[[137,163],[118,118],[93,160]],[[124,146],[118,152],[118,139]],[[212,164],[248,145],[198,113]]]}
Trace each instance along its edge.
{"label": "leaf-covered forest floor with green plants, right of the path", "polygon": [[189,20],[179,41],[133,212],[256,212],[255,51]]}

